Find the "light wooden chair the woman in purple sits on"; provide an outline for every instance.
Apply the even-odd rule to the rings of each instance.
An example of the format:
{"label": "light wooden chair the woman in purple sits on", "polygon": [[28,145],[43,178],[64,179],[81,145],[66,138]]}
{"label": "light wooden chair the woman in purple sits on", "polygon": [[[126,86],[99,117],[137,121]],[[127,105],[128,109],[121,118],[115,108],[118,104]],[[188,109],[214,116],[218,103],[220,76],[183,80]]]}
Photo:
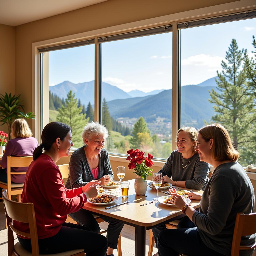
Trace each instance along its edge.
{"label": "light wooden chair the woman in purple sits on", "polygon": [[[33,161],[33,156],[14,157],[7,156],[7,183],[0,181],[0,188],[7,189],[8,198],[12,200],[13,195],[18,196],[18,202],[21,201],[24,183],[11,183],[11,174],[22,175],[27,172],[11,172],[11,167],[28,167]],[[1,195],[0,195],[1,196]],[[0,199],[3,199],[0,197]]]}

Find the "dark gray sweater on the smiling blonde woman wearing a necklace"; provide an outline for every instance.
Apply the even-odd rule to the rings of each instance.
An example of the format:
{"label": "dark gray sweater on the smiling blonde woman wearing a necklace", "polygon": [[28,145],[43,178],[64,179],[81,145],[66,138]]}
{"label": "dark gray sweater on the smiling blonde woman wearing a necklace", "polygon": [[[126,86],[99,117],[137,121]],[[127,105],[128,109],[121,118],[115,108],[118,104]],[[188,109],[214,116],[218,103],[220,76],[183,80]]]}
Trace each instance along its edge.
{"label": "dark gray sweater on the smiling blonde woman wearing a necklace", "polygon": [[[186,166],[183,169],[182,163]],[[210,165],[201,162],[199,155],[196,153],[189,159],[185,159],[182,153],[175,150],[171,153],[164,167],[159,171],[163,176],[172,176],[173,180],[186,181],[186,188],[204,189],[209,180]]]}

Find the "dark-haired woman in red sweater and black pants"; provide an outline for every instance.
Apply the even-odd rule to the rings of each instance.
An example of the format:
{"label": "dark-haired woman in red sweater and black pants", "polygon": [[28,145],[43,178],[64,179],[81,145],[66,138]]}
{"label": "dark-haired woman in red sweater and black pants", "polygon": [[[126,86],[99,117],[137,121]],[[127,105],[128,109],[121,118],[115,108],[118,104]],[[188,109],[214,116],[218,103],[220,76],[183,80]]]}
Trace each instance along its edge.
{"label": "dark-haired woman in red sweater and black pants", "polygon": [[[24,183],[22,202],[35,206],[40,254],[54,254],[83,248],[90,255],[105,256],[108,240],[90,229],[65,223],[67,215],[79,211],[87,198],[98,195],[99,181],[91,181],[77,189],[66,189],[56,162],[69,156],[73,146],[71,128],[63,123],[52,122],[42,131],[42,144],[33,154]],[[43,152],[43,148],[45,150]],[[26,223],[14,222],[14,227],[29,232]],[[31,240],[18,237],[28,251]]]}

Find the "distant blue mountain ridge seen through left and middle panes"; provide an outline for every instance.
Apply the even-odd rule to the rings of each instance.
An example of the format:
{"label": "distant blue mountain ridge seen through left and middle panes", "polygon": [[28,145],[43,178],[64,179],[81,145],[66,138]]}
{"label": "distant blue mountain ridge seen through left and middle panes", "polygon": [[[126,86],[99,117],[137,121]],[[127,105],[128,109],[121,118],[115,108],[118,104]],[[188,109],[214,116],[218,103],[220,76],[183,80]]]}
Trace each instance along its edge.
{"label": "distant blue mountain ridge seen through left and middle panes", "polygon": [[[75,97],[80,99],[82,104],[87,106],[88,103],[91,102],[91,104],[94,105],[94,81],[78,84],[64,81],[55,86],[51,86],[49,90],[52,93],[57,94],[61,99],[66,99],[68,92],[72,90],[73,93],[75,93]],[[131,98],[128,93],[105,82],[102,82],[102,95],[106,101]]]}

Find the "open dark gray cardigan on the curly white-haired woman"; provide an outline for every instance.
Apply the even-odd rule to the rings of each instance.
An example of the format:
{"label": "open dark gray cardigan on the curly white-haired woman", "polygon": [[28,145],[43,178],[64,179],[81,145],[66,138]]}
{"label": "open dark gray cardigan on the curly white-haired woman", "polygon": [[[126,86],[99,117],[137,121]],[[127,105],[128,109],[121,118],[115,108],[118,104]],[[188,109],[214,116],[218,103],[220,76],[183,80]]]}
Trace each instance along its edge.
{"label": "open dark gray cardigan on the curly white-haired woman", "polygon": [[[114,178],[114,174],[110,166],[108,151],[103,148],[99,154],[99,174],[97,179],[101,179],[104,175],[109,175],[111,180]],[[95,180],[95,178],[91,172],[83,146],[78,148],[71,155],[69,175],[65,187],[79,188],[86,185],[91,180]]]}

